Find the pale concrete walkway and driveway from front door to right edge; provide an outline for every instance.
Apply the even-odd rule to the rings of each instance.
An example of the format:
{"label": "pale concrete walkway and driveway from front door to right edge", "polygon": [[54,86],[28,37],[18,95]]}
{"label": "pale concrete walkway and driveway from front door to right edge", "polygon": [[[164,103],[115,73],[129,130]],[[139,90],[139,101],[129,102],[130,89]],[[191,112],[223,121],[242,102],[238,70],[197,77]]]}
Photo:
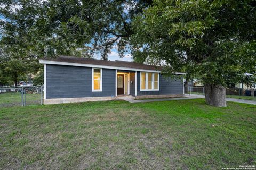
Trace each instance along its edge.
{"label": "pale concrete walkway and driveway from front door to right edge", "polygon": [[[194,95],[194,94],[191,94],[191,96],[189,96],[189,94],[185,94],[185,97],[179,97],[179,98],[145,99],[145,100],[135,100],[134,98],[127,96],[127,97],[123,97],[122,99],[130,103],[141,103],[141,102],[152,102],[152,101],[187,100],[187,99],[198,99],[198,98],[205,98],[205,96]],[[256,101],[254,100],[227,98],[227,101],[256,105]]]}

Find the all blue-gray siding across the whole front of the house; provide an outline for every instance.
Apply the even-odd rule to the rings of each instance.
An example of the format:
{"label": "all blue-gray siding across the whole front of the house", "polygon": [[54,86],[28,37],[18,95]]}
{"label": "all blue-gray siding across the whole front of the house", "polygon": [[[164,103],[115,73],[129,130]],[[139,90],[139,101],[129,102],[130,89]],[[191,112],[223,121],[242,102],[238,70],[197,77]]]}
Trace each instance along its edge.
{"label": "all blue-gray siding across the whole front of the house", "polygon": [[[130,94],[135,96],[135,71],[130,72]],[[131,84],[133,81],[133,84]],[[137,95],[182,94],[183,80],[159,77],[159,91],[140,91],[137,72]],[[102,69],[102,92],[92,92],[92,68],[66,65],[46,65],[46,99],[78,97],[110,97],[116,94],[116,70]]]}

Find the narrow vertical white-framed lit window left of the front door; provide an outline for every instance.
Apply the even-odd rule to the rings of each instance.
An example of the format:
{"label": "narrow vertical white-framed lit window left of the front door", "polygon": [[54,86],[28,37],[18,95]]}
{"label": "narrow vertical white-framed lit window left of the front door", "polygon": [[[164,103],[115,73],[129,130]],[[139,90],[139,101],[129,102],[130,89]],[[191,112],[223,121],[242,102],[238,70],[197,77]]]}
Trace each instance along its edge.
{"label": "narrow vertical white-framed lit window left of the front door", "polygon": [[102,91],[102,69],[92,68],[92,91]]}

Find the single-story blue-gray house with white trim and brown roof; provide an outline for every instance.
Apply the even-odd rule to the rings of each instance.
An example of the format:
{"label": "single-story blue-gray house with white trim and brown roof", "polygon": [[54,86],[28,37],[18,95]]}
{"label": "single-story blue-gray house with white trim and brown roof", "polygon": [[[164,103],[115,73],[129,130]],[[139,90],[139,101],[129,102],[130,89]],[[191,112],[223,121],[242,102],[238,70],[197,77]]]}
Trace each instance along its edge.
{"label": "single-story blue-gray house with white trim and brown roof", "polygon": [[[163,78],[163,67],[60,56],[44,64],[44,103],[111,100],[118,96],[183,96],[183,76]],[[183,75],[184,73],[177,73]]]}

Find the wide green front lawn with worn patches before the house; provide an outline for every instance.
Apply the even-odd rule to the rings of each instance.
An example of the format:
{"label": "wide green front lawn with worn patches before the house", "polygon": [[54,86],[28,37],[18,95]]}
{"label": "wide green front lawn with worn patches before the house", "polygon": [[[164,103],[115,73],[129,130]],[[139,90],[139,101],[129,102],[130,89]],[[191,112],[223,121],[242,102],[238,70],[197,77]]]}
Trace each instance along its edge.
{"label": "wide green front lawn with worn patches before the house", "polygon": [[0,169],[256,165],[256,106],[204,99],[0,108]]}

